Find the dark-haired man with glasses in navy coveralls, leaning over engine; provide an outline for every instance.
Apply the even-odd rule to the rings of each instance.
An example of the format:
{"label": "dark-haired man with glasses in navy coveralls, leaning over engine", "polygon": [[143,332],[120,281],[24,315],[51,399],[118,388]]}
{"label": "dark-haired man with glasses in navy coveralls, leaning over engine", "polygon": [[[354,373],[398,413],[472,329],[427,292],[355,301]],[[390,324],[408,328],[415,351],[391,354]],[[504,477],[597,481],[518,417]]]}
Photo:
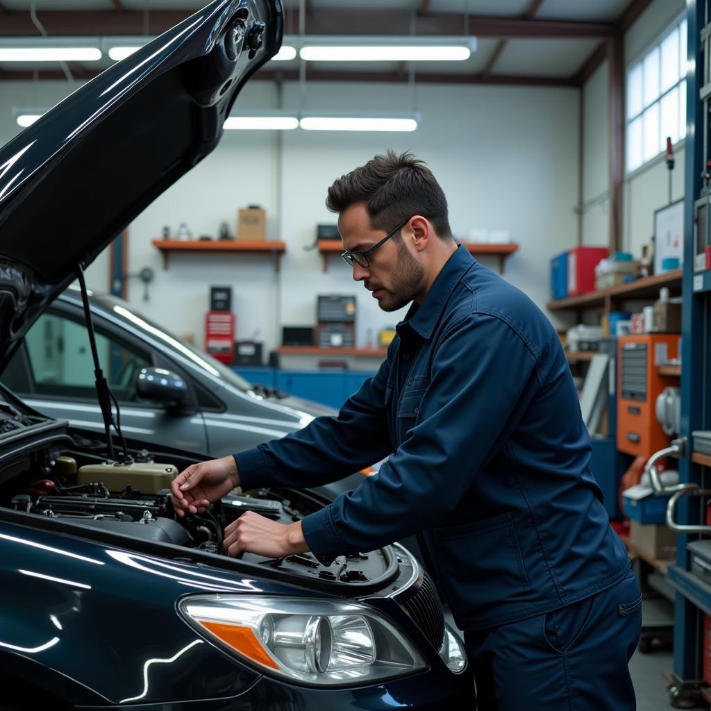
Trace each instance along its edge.
{"label": "dark-haired man with glasses in navy coveralls, leaning over engine", "polygon": [[442,188],[411,154],[375,156],[326,204],[353,279],[384,311],[412,306],[338,417],[189,466],[171,486],[178,515],[235,486],[318,486],[387,456],[301,521],[243,514],[225,549],[329,560],[417,532],[464,631],[479,709],[634,709],[641,594],[554,328],[456,245]]}

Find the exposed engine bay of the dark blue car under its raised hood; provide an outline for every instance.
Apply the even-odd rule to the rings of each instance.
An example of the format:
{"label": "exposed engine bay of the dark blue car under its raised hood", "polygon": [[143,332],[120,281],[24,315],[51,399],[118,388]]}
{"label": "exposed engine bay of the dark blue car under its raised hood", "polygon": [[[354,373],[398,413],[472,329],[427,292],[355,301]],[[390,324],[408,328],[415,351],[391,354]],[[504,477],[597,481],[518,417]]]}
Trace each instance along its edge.
{"label": "exposed engine bay of the dark blue car under its raised hood", "polygon": [[[32,430],[36,424],[44,424],[46,429],[52,423],[25,415],[6,402],[0,405],[0,447],[12,435]],[[77,442],[74,438],[81,448],[31,447],[13,466],[4,466],[0,506],[133,539],[223,555],[225,528],[246,511],[292,523],[327,503],[308,491],[237,489],[203,513],[179,518],[169,487],[191,461],[180,456],[173,457],[175,464],[155,461],[148,451],[139,450],[121,463],[107,459],[101,442],[85,438]],[[245,553],[242,560],[301,577],[346,583],[378,579],[390,567],[380,551],[353,552],[339,556],[331,565],[324,565],[311,553],[280,559]]]}

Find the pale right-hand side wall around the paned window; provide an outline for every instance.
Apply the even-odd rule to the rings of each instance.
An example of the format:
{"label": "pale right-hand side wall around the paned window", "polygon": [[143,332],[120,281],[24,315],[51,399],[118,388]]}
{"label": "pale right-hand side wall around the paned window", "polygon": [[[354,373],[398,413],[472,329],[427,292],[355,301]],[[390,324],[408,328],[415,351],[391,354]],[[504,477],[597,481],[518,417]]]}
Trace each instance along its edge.
{"label": "pale right-hand side wall around the paned window", "polygon": [[[684,11],[683,0],[653,0],[624,38],[625,67]],[[604,62],[587,81],[584,107],[584,220],[583,242],[606,245],[609,235],[609,78]],[[684,144],[676,146],[672,199],[684,194]],[[664,156],[645,164],[624,180],[624,250],[641,256],[642,245],[653,234],[654,210],[668,202],[668,171]]]}

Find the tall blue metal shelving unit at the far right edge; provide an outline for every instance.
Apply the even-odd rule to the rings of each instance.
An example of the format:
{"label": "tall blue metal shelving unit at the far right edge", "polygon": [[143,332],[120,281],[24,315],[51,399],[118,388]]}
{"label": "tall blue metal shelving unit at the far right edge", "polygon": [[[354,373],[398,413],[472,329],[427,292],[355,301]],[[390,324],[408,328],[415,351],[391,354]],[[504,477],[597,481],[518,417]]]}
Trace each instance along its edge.
{"label": "tall blue metal shelving unit at the far right edge", "polygon": [[[680,483],[711,489],[710,461],[693,453],[691,433],[711,429],[711,272],[705,269],[701,252],[711,245],[711,0],[688,0],[687,132],[685,146],[685,230],[682,277],[682,355],[680,439],[683,452],[678,459]],[[703,494],[704,492],[701,491]],[[692,492],[680,498],[676,508],[678,525],[705,524],[709,496]],[[708,533],[677,532],[677,560],[668,567],[668,582],[675,590],[674,668],[670,702],[688,707],[693,700],[711,698],[703,682],[703,615],[711,615],[711,585],[696,575],[688,544],[707,540]]]}

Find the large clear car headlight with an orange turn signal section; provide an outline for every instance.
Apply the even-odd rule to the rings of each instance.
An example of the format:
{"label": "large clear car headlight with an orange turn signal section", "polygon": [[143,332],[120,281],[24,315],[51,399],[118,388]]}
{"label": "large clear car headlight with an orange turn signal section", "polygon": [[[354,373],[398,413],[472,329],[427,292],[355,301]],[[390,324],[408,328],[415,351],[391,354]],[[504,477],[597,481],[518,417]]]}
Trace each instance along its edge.
{"label": "large clear car headlight with an orange turn signal section", "polygon": [[364,604],[215,594],[183,598],[178,610],[243,661],[302,683],[373,683],[429,666],[405,634]]}

